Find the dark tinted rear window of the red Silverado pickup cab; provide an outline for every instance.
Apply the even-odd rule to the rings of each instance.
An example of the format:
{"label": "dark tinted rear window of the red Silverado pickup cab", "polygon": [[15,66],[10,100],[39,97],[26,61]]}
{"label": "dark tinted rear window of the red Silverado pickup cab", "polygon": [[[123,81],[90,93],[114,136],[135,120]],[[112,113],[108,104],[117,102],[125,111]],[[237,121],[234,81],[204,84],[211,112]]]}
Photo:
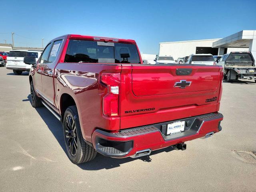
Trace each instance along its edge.
{"label": "dark tinted rear window of the red Silverado pickup cab", "polygon": [[140,57],[134,44],[70,40],[64,62],[140,63]]}

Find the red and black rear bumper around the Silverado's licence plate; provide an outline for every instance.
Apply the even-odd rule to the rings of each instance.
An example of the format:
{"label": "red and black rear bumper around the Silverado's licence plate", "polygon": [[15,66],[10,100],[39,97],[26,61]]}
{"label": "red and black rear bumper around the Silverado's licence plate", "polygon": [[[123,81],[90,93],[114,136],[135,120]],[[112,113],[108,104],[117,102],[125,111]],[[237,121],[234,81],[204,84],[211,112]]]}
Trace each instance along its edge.
{"label": "red and black rear bumper around the Silverado's licence plate", "polygon": [[[220,126],[220,121],[222,120],[222,114],[212,113],[125,129],[115,133],[96,129],[92,134],[92,144],[96,151],[104,156],[124,158],[134,156],[138,151],[158,150],[205,137],[211,132],[219,132],[222,129]],[[185,121],[185,131],[178,134],[166,135],[167,124],[176,121]],[[190,123],[187,124],[187,122]]]}

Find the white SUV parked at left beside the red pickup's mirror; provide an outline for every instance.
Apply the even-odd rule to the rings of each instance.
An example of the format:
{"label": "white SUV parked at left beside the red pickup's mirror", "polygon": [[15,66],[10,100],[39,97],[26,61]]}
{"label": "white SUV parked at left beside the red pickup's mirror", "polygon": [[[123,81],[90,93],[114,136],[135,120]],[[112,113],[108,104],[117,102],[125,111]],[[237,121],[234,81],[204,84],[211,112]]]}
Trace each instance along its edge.
{"label": "white SUV parked at left beside the red pickup's mirror", "polygon": [[38,60],[41,54],[42,51],[38,50],[12,50],[8,54],[6,68],[13,70],[16,75],[20,75],[24,71],[29,72],[31,65],[23,62],[24,57],[31,56]]}

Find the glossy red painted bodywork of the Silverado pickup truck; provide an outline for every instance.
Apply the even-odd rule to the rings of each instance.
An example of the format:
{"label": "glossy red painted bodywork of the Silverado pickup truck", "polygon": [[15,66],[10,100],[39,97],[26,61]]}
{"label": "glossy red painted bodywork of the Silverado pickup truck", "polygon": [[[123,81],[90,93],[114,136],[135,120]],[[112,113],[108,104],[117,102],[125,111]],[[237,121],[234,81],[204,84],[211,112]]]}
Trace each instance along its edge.
{"label": "glossy red painted bodywork of the Silverado pickup truck", "polygon": [[[81,35],[61,36],[51,41],[63,40],[56,60],[51,64],[38,64],[30,71],[35,89],[50,100],[48,102],[42,98],[58,114],[64,113],[61,103],[63,94],[69,94],[74,99],[78,108],[82,135],[88,142],[94,142],[97,136],[94,131],[98,128],[118,132],[120,129],[214,113],[219,110],[223,78],[221,66],[64,63],[69,39],[118,41],[135,45],[136,42],[118,38],[95,39],[93,36]],[[140,62],[143,63],[141,56]],[[177,68],[190,68],[192,72],[190,75],[178,76]],[[53,74],[51,75],[49,71]],[[118,83],[113,83],[113,79],[106,78],[102,74],[115,74]],[[189,81],[191,85],[184,89],[174,87],[174,84],[180,80]],[[119,86],[119,94],[111,94],[110,86]],[[206,102],[206,99],[214,97],[218,99]],[[104,98],[107,98],[106,102],[110,102],[110,98],[114,100],[115,115],[108,112],[104,115],[102,104]],[[105,106],[106,111],[111,110],[109,106]],[[148,108],[152,110],[144,110]],[[126,113],[126,111],[135,112]],[[135,153],[136,150],[145,148],[156,150],[204,136],[210,131],[218,132],[218,121],[205,122],[198,134],[169,142],[164,141],[159,132],[136,136],[132,138],[136,147],[127,156]]]}

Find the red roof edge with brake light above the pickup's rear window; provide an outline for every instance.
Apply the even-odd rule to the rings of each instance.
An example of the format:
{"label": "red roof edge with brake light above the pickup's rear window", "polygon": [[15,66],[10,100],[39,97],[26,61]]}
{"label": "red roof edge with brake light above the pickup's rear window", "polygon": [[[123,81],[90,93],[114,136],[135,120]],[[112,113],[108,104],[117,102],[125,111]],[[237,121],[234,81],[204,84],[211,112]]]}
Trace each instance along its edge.
{"label": "red roof edge with brake light above the pickup's rear window", "polygon": [[121,39],[121,38],[100,37],[100,36],[88,36],[88,35],[78,35],[78,34],[66,34],[66,35],[54,38],[53,40],[56,40],[56,39],[59,39],[59,38],[64,38],[64,37],[68,38],[68,39],[75,39],[75,40],[83,39],[83,40],[92,40],[92,41],[136,44],[136,42],[132,39]]}

